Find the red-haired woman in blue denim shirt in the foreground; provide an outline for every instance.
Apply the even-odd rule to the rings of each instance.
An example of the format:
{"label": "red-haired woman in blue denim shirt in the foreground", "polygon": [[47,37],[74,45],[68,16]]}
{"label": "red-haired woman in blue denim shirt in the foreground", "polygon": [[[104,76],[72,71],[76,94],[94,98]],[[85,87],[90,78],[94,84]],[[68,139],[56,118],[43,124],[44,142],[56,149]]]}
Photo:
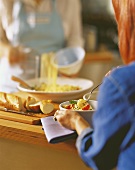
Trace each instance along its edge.
{"label": "red-haired woman in blue denim shirt in the foreground", "polygon": [[103,79],[93,128],[77,113],[56,111],[57,121],[77,131],[76,147],[93,169],[135,169],[135,1],[112,0],[124,65]]}

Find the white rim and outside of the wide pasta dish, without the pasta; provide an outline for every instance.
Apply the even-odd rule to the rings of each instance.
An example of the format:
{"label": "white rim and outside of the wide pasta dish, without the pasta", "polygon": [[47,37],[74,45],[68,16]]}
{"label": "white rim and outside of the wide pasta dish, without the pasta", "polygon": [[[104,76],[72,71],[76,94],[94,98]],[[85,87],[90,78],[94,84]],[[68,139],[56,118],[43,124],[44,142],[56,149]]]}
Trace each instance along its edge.
{"label": "white rim and outside of the wide pasta dish, without the pasta", "polygon": [[[37,79],[27,80],[26,82],[30,86],[35,86],[35,85],[40,85],[42,82],[47,83],[47,80],[45,78],[37,78]],[[51,99],[52,101],[59,103],[67,100],[82,98],[82,96],[85,93],[88,93],[90,91],[90,88],[93,86],[93,82],[91,80],[83,79],[83,78],[58,77],[57,84],[60,85],[68,84],[68,85],[79,86],[81,87],[81,89],[68,91],[68,92],[44,92],[44,91],[30,90],[21,85],[18,85],[17,88],[20,91],[29,93],[31,96],[36,97],[39,100]]]}

